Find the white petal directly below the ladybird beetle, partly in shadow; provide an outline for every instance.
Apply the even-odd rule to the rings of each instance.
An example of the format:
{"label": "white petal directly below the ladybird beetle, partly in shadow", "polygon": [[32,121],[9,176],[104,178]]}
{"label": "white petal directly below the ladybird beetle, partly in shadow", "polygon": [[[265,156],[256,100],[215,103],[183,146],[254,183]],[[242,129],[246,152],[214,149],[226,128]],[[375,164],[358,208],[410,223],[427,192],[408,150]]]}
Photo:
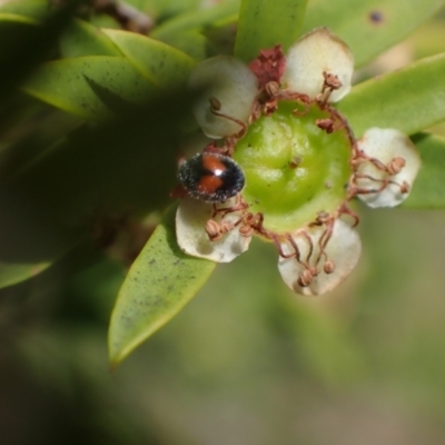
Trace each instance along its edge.
{"label": "white petal directly below the ladybird beetle, partly in shadow", "polygon": [[[224,207],[230,207],[235,198],[228,199]],[[211,218],[214,207],[209,202],[186,197],[179,202],[176,212],[176,237],[180,249],[194,257],[210,259],[216,263],[229,263],[249,247],[251,237],[244,237],[235,228],[222,238],[210,241],[205,230]],[[228,214],[224,219],[236,221],[238,212]]]}

